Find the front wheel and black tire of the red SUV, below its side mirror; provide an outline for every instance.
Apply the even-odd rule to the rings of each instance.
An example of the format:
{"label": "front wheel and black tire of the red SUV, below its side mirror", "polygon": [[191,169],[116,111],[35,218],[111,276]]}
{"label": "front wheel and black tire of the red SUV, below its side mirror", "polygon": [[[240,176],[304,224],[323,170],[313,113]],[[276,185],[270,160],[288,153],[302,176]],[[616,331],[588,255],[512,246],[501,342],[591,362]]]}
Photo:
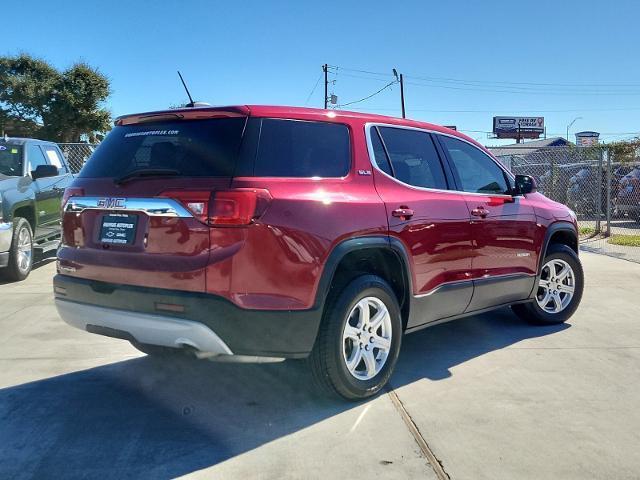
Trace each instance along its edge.
{"label": "front wheel and black tire of the red SUV, below its side mirror", "polygon": [[[571,248],[566,245],[552,244],[547,250],[547,255],[544,257],[542,265],[538,284],[536,285],[537,291],[534,301],[512,305],[511,309],[520,318],[535,325],[556,325],[564,323],[574,314],[582,299],[584,289],[582,264],[580,263],[578,255],[576,255]],[[553,265],[553,267],[551,265]],[[547,268],[547,266],[549,267]],[[564,266],[570,267],[570,275],[559,280],[559,283],[549,282],[547,285],[550,288],[543,285],[543,282],[546,282],[547,277],[551,275],[552,268],[556,271],[556,274],[561,274]],[[558,271],[559,268],[560,270]],[[554,285],[557,289],[554,288]],[[571,286],[573,286],[573,292],[572,295],[568,297],[568,287]],[[558,293],[557,299],[553,298],[555,295],[547,297],[547,292]],[[545,302],[545,299],[548,299],[547,302]],[[558,302],[560,305],[558,305]],[[543,304],[545,308],[543,308]],[[554,312],[553,310],[557,311]]]}

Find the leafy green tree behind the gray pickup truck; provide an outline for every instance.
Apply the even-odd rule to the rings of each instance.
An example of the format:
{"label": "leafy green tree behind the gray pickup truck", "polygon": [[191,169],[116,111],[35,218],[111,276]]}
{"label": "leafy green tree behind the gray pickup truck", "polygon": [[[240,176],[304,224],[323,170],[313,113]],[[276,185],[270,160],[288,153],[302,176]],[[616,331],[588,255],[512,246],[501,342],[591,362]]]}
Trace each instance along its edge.
{"label": "leafy green tree behind the gray pickup truck", "polygon": [[56,142],[95,142],[111,128],[109,80],[84,62],[59,71],[27,54],[0,57],[0,129]]}

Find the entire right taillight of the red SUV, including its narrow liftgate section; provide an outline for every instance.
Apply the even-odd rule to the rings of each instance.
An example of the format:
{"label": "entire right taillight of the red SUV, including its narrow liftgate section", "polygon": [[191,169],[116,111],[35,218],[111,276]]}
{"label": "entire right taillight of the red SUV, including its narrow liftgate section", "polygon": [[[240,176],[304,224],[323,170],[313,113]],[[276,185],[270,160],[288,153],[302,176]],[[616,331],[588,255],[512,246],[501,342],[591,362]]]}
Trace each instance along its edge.
{"label": "entire right taillight of the red SUV, including its narrow liftgate section", "polygon": [[179,201],[202,223],[216,226],[249,225],[271,201],[269,192],[259,188],[218,192],[170,190],[161,196]]}

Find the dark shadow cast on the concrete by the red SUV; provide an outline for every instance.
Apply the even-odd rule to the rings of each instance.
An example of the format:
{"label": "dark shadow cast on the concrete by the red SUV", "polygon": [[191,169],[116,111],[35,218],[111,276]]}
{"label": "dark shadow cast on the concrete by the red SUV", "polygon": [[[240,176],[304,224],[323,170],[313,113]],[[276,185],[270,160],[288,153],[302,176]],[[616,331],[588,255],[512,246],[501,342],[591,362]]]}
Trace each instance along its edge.
{"label": "dark shadow cast on the concrete by the red SUV", "polygon": [[[557,332],[509,311],[404,338],[395,387],[445,379],[467,360]],[[142,357],[0,390],[0,478],[174,478],[358,404],[309,387],[304,362]],[[274,459],[275,461],[275,459]]]}

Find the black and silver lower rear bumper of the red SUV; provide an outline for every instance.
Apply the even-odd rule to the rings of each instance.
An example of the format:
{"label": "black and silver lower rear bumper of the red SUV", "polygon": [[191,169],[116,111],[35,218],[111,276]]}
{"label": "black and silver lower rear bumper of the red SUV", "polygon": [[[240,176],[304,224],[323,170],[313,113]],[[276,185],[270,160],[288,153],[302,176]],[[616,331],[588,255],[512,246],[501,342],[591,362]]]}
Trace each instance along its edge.
{"label": "black and silver lower rear bumper of the red SUV", "polygon": [[[56,275],[56,306],[70,325],[93,333],[204,354],[303,358],[321,312],[246,310],[215,295],[135,287]],[[158,304],[184,306],[180,313]]]}

